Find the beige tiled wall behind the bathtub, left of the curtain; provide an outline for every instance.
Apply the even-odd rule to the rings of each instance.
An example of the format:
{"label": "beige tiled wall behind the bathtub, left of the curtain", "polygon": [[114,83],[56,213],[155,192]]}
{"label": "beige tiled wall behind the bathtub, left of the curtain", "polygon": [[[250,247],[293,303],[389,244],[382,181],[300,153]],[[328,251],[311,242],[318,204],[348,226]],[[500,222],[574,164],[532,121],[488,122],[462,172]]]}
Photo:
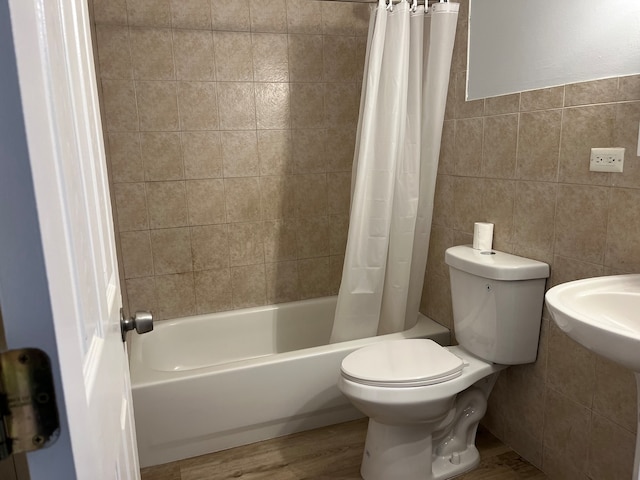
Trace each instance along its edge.
{"label": "beige tiled wall behind the bathtub, left of the curtain", "polygon": [[368,11],[94,0],[130,310],[337,293]]}

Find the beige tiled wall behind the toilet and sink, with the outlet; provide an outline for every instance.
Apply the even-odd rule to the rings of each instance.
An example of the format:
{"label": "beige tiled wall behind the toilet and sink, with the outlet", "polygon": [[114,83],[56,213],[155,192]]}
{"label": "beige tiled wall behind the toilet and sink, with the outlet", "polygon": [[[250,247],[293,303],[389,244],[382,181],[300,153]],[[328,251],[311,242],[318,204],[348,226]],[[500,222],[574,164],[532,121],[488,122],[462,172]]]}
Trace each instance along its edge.
{"label": "beige tiled wall behind the toilet and sink, with the outlet", "polygon": [[[548,286],[640,273],[640,76],[464,101],[462,2],[436,187],[423,311],[451,325],[444,250],[495,224],[494,248],[551,265]],[[591,147],[625,147],[624,173],[589,172]],[[487,426],[560,480],[631,478],[633,375],[544,312],[538,360],[504,372]]]}

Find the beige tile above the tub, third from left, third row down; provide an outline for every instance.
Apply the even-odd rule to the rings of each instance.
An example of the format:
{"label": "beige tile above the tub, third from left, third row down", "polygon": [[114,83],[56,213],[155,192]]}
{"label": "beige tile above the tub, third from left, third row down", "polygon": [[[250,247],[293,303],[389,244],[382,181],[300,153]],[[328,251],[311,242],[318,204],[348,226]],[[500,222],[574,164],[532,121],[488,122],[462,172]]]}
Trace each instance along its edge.
{"label": "beige tile above the tub, third from left, third row down", "polygon": [[182,130],[218,128],[218,100],[214,82],[179,82],[178,104]]}

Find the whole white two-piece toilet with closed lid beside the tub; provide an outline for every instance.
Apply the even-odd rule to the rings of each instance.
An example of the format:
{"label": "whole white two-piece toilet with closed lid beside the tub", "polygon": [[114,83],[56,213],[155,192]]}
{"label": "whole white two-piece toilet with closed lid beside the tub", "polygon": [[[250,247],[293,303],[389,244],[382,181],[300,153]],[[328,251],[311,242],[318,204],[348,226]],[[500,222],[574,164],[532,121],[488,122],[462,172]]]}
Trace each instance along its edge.
{"label": "whole white two-piece toilet with closed lid beside the tub", "polygon": [[471,246],[445,253],[457,346],[388,340],[345,357],[338,386],[369,417],[365,480],[439,480],[476,467],[500,371],[536,359],[549,266]]}

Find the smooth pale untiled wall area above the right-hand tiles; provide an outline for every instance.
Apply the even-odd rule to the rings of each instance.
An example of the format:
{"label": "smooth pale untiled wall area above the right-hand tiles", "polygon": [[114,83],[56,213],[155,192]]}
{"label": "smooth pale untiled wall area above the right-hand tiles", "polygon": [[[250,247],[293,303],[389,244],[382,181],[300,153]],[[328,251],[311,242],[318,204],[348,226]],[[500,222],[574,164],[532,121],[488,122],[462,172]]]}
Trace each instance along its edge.
{"label": "smooth pale untiled wall area above the right-hand tiles", "polygon": [[639,0],[470,0],[467,100],[640,73]]}

